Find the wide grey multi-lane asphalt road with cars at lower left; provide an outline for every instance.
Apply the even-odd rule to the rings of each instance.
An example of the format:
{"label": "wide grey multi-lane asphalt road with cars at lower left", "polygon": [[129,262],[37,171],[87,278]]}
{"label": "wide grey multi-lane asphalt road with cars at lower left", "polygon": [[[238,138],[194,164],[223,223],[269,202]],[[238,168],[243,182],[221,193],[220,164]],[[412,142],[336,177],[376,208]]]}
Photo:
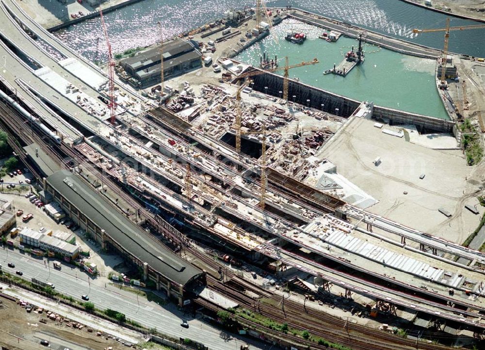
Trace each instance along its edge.
{"label": "wide grey multi-lane asphalt road with cars at lower left", "polygon": [[[9,262],[14,263],[15,268],[9,268]],[[80,300],[81,295],[86,294],[98,309],[109,308],[122,312],[127,318],[148,328],[157,328],[163,334],[174,337],[194,339],[208,346],[210,350],[239,350],[243,344],[249,344],[251,350],[271,347],[253,342],[250,338],[228,334],[197,318],[184,316],[173,303],[162,306],[143,297],[137,298],[134,293],[105,285],[105,279],[92,279],[87,273],[69,265],[63,264],[62,270],[55,270],[52,261],[48,265],[45,258],[34,258],[6,248],[0,248],[0,264],[6,272],[15,274],[16,270],[20,270],[24,279],[31,280],[35,277],[40,281],[53,283],[56,291]],[[182,318],[188,320],[188,329],[180,326]],[[276,350],[275,347],[273,349]]]}

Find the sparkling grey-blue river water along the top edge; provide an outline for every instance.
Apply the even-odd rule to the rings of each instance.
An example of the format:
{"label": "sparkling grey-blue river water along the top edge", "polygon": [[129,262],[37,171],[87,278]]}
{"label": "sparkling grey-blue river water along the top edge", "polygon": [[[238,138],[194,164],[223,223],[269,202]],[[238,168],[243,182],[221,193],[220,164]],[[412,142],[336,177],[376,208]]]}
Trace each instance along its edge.
{"label": "sparkling grey-blue river water along the top edge", "polygon": [[[143,0],[105,15],[114,53],[143,47],[222,17],[224,11],[255,6],[246,0]],[[267,6],[285,7],[288,0],[268,1]],[[307,11],[422,45],[442,48],[443,32],[416,35],[413,28],[444,28],[446,16],[399,0],[302,0],[293,3]],[[452,26],[477,22],[451,17]],[[91,60],[105,60],[106,45],[99,18],[60,30],[56,36]],[[99,39],[98,39],[99,38]],[[485,57],[485,29],[451,32],[450,50]]]}

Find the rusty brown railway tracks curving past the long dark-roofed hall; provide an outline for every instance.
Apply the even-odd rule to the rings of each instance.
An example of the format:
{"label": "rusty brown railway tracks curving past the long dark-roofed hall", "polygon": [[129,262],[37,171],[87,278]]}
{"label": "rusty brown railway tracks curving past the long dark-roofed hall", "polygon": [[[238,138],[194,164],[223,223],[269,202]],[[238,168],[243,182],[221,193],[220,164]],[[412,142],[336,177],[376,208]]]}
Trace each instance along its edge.
{"label": "rusty brown railway tracks curving past the long dark-roofed hall", "polygon": [[[13,112],[7,106],[0,104],[0,112],[2,112],[4,116],[7,115],[10,121],[10,123],[8,123],[7,125],[5,123],[5,120],[2,119],[1,124],[9,127],[14,133],[19,135],[19,137],[22,139],[23,142],[39,143],[39,145],[46,151],[46,153],[52,156],[61,167],[68,168],[67,164],[65,163],[66,155],[73,159],[80,159],[80,157],[83,157],[83,155],[76,153],[74,149],[64,144],[60,146],[55,145],[54,147],[46,145],[44,140],[38,135],[36,135],[35,133],[33,133],[32,130],[29,130],[27,127],[25,127],[22,120],[20,120],[18,115],[16,115],[15,111]],[[16,121],[16,123],[12,123],[13,121]],[[16,145],[14,141],[12,141],[12,144]],[[23,150],[21,149],[21,147],[19,147],[18,145],[16,145],[16,147],[19,149],[18,152],[20,152],[18,154],[23,154],[22,152]],[[102,175],[97,168],[93,168],[93,169],[94,171],[98,172],[98,175]],[[136,202],[135,199],[129,196],[129,194],[127,194],[126,192],[122,191],[111,180],[107,180],[105,182],[105,185],[110,187],[112,191],[115,191],[117,195],[119,195],[121,198],[127,201],[127,203],[132,205],[134,208],[140,207],[140,205]],[[196,248],[192,247],[188,240],[180,239],[180,237],[183,237],[183,235],[179,233],[177,230],[175,230],[174,228],[172,228],[172,230],[169,230],[167,227],[163,227],[160,224],[160,220],[157,219],[156,216],[154,216],[153,214],[151,214],[145,209],[143,209],[142,211],[143,211],[143,216],[146,218],[146,220],[154,224],[155,227],[157,227],[160,230],[162,235],[164,235],[167,238],[173,239],[174,242],[178,244],[184,245],[185,249],[187,249],[188,252],[190,252],[192,255],[196,256],[197,258],[199,258],[205,264],[209,265],[210,267],[213,267],[215,270],[217,270],[220,266],[222,266],[217,262],[215,262],[212,257],[209,257],[201,253],[200,251],[198,251]],[[169,227],[171,227],[168,223],[166,224]],[[159,237],[155,235],[150,235],[150,236],[154,240],[160,241]],[[241,285],[244,289],[249,289],[261,296],[264,296],[270,299],[276,305],[278,302],[280,302],[274,295],[268,295],[268,292],[266,290],[262,289],[259,286],[253,285],[247,281],[244,281],[232,271],[228,271],[227,273],[231,279],[236,281],[236,283]],[[416,349],[416,344],[413,341],[400,338],[393,334],[387,334],[381,331],[373,330],[358,324],[349,323],[349,322],[345,323],[340,318],[319,312],[311,307],[306,307],[305,313],[303,313],[302,305],[300,303],[293,302],[291,300],[281,301],[282,303],[284,303],[285,306],[282,307],[283,309],[280,309],[271,304],[266,304],[261,302],[256,303],[253,299],[241,293],[241,291],[231,286],[227,286],[226,284],[222,283],[221,281],[217,280],[216,278],[210,275],[208,276],[208,284],[219,293],[225,295],[227,298],[240,303],[242,307],[246,309],[259,313],[262,316],[265,316],[267,318],[275,319],[278,321],[286,321],[289,324],[289,326],[291,326],[292,328],[295,328],[301,331],[308,330],[312,334],[320,336],[326,339],[327,341],[345,344],[351,347],[352,349],[368,350],[370,340],[372,341],[372,344],[373,344],[372,349],[375,349],[375,350],[395,350],[395,349],[404,350],[404,349],[411,349],[411,348]],[[196,302],[212,310],[220,310],[219,307],[215,305],[210,305],[210,302],[203,301],[200,298],[197,299]],[[247,324],[251,324],[258,329],[264,328],[256,322],[247,320],[245,318],[241,318],[239,316],[238,318],[240,321],[243,321]],[[305,342],[312,349],[326,349],[322,345],[307,342],[305,339],[302,339],[301,337],[297,337],[292,334],[283,334],[282,332],[277,332],[275,330],[268,329],[268,328],[266,328],[265,331],[268,332],[269,334],[274,334],[276,336],[284,337],[286,339],[289,339],[299,344],[302,342]],[[419,348],[427,349],[427,350],[446,349],[444,347],[440,347],[436,345],[428,345],[428,344],[419,344]]]}

